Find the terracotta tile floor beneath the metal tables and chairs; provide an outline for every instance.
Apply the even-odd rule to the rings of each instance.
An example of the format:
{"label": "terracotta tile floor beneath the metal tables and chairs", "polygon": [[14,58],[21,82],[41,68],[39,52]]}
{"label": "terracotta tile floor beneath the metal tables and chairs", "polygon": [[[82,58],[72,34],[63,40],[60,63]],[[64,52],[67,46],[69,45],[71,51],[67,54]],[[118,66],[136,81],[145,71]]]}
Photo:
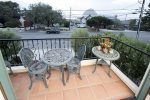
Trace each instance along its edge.
{"label": "terracotta tile floor beneath the metal tables and chairs", "polygon": [[27,73],[10,75],[10,78],[18,100],[120,100],[134,96],[116,74],[111,72],[112,77],[107,75],[107,66],[98,66],[92,74],[93,68],[94,65],[81,68],[82,80],[71,74],[66,86],[61,82],[59,70],[52,70],[47,80],[49,88],[37,81],[29,90]]}

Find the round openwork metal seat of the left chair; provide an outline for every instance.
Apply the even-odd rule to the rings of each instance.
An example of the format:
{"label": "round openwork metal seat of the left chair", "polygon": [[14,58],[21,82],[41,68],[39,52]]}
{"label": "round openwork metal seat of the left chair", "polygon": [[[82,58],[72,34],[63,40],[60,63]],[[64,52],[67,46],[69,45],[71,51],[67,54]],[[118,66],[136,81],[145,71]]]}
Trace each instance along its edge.
{"label": "round openwork metal seat of the left chair", "polygon": [[43,74],[46,71],[47,71],[47,64],[43,62],[36,62],[29,68],[29,72],[32,74]]}

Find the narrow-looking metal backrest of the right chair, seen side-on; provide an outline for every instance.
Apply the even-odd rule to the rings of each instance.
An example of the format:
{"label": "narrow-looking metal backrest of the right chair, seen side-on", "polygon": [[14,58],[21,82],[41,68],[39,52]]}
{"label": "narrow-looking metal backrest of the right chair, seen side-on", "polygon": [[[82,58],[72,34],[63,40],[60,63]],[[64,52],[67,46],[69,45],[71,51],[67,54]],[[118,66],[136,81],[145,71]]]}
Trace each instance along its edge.
{"label": "narrow-looking metal backrest of the right chair, seen side-on", "polygon": [[84,58],[86,52],[86,45],[82,44],[77,50],[77,58],[81,61]]}

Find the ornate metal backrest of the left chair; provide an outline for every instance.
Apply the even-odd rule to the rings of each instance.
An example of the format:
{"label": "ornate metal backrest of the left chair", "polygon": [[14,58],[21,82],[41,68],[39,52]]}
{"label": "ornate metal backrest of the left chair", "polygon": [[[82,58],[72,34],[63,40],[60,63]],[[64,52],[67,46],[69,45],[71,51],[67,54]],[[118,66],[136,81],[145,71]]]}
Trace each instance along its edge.
{"label": "ornate metal backrest of the left chair", "polygon": [[30,64],[34,58],[34,53],[29,48],[22,48],[19,51],[19,57],[24,67],[30,67]]}

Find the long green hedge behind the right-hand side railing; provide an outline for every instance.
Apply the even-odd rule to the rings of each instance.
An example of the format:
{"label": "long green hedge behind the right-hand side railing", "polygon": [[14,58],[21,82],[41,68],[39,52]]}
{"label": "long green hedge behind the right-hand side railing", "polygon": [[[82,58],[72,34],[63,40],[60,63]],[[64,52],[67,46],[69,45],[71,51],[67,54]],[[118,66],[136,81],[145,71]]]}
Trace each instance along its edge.
{"label": "long green hedge behind the right-hand side railing", "polygon": [[[111,36],[135,48],[139,48],[142,51],[147,53],[150,52],[150,45],[134,38],[126,37],[123,33],[118,36],[113,33],[104,33],[103,36]],[[116,49],[121,55],[120,59],[115,61],[115,64],[132,81],[139,85],[149,64],[150,57],[138,52],[135,49],[125,46],[120,42],[112,42],[114,42],[113,48]]]}

